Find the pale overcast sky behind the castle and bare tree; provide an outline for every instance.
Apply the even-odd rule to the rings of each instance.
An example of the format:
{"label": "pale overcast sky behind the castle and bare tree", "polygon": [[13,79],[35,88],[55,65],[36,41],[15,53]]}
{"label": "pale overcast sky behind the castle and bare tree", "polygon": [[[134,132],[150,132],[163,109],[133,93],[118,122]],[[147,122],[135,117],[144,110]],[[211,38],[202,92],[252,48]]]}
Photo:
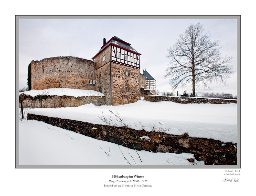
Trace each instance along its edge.
{"label": "pale overcast sky behind the castle and bare tree", "polygon": [[[28,64],[55,56],[91,58],[100,50],[103,38],[116,36],[128,42],[142,55],[143,69],[156,79],[160,92],[174,91],[164,79],[169,59],[167,49],[172,46],[187,26],[200,22],[211,40],[220,40],[223,56],[233,57],[235,73],[228,85],[213,83],[210,90],[196,89],[196,93],[225,92],[237,95],[237,20],[236,19],[20,19],[19,20],[19,88],[27,86]],[[192,89],[184,90],[190,94]],[[176,91],[175,91],[176,92]]]}

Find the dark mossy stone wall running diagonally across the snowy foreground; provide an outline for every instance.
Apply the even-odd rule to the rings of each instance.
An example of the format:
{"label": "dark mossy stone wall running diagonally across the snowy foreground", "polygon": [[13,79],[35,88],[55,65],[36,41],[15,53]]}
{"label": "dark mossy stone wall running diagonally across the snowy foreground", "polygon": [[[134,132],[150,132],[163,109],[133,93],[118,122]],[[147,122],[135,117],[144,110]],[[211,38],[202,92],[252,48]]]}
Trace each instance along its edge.
{"label": "dark mossy stone wall running diagonally across the snowy foreground", "polygon": [[[189,137],[184,135],[170,135],[163,132],[136,131],[139,136],[149,136],[151,141],[134,140],[134,135],[125,127],[118,129],[108,125],[95,125],[88,122],[61,119],[55,117],[29,114],[27,120],[38,120],[74,131],[98,140],[119,144],[138,151],[144,149],[152,152],[191,153],[197,161],[203,160],[206,165],[237,165],[237,146],[218,140]],[[94,128],[94,129],[93,129]],[[95,129],[96,128],[96,129]],[[143,161],[143,159],[142,159]],[[191,163],[192,164],[192,163]]]}

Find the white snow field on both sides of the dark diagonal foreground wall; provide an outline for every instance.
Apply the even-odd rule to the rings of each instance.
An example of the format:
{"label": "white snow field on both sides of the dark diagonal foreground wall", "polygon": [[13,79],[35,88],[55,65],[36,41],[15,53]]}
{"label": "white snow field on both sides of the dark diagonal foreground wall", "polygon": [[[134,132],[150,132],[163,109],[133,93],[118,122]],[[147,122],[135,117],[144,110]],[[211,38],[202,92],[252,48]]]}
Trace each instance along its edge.
{"label": "white snow field on both sides of the dark diagonal foreground wall", "polygon": [[[105,124],[99,117],[112,117],[110,111],[120,116],[132,128],[159,126],[171,128],[169,134],[188,133],[191,137],[205,137],[223,142],[237,143],[237,104],[179,104],[174,102],[148,102],[139,100],[122,106],[94,106],[93,104],[69,108],[25,109],[49,117]],[[26,114],[25,114],[26,115]],[[99,116],[99,117],[98,117]],[[114,120],[121,126],[120,123]],[[191,165],[193,154],[151,153],[96,140],[72,131],[36,120],[19,121],[19,164],[21,165]],[[109,149],[110,148],[110,149]],[[106,155],[109,153],[109,156]],[[130,153],[130,154],[129,154]],[[195,161],[194,164],[203,164]]]}

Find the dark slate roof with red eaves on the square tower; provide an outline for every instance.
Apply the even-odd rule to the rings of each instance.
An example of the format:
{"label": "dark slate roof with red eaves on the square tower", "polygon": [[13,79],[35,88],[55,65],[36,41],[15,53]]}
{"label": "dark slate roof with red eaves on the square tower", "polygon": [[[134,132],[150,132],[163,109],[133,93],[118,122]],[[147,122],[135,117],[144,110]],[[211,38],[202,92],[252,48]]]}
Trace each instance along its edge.
{"label": "dark slate roof with red eaves on the square tower", "polygon": [[123,49],[126,49],[126,50],[129,50],[130,52],[133,52],[137,55],[141,55],[141,53],[138,53],[133,47],[131,47],[131,44],[130,43],[127,43],[125,42],[124,40],[121,40],[120,38],[114,36],[112,37],[109,41],[107,41],[102,47],[101,49],[99,50],[99,52],[97,52],[96,55],[94,55],[92,57],[92,59],[94,57],[96,57],[99,53],[101,53],[101,51],[103,51],[106,47],[109,46],[109,44],[111,45],[116,45],[117,47],[120,47],[120,48],[123,48]]}

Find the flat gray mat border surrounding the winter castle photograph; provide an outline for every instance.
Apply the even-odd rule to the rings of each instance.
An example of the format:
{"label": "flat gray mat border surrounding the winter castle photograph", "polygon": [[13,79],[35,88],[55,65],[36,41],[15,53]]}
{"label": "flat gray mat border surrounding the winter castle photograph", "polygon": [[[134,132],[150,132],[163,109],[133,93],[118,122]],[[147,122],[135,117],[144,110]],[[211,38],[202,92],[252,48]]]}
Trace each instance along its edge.
{"label": "flat gray mat border surrounding the winter castle photograph", "polygon": [[[236,19],[237,165],[19,165],[19,19]],[[15,167],[16,168],[241,168],[241,16],[16,16],[15,17]]]}

